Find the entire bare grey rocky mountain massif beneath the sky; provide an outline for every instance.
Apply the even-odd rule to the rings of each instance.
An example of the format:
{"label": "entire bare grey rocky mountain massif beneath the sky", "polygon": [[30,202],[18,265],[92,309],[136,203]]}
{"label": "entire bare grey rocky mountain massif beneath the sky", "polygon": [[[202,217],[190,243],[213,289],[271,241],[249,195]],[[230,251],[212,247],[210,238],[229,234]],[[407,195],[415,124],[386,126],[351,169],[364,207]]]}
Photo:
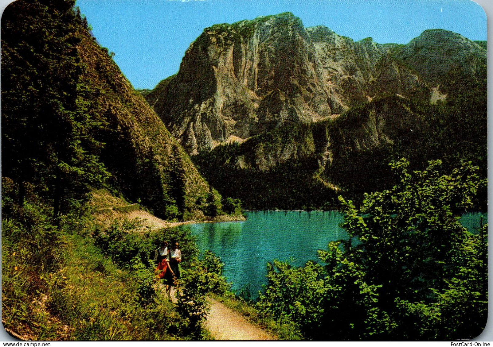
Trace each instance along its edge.
{"label": "entire bare grey rocky mountain massif beneath the sky", "polygon": [[146,100],[197,154],[228,138],[333,118],[383,93],[411,97],[420,90],[429,97],[438,76],[463,59],[470,62],[464,73],[474,74],[483,56],[486,50],[451,32],[382,45],[324,26],[304,28],[287,12],[206,28],[177,75]]}

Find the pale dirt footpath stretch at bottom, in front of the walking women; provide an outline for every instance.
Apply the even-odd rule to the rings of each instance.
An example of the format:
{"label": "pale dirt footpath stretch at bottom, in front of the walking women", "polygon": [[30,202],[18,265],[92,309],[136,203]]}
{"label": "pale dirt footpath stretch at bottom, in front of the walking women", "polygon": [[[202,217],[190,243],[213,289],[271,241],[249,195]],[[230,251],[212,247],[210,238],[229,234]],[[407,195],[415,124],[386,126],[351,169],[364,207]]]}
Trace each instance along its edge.
{"label": "pale dirt footpath stretch at bottom, in front of the walking women", "polygon": [[206,327],[215,340],[275,340],[275,337],[248,322],[236,311],[212,298],[208,300],[211,311],[207,316]]}

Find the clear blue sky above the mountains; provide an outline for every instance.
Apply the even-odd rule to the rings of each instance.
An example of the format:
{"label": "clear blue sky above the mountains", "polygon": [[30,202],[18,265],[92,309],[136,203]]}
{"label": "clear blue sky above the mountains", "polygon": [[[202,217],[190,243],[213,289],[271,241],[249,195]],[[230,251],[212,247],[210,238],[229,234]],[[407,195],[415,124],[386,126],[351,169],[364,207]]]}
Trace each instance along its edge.
{"label": "clear blue sky above the mountains", "polygon": [[486,40],[487,19],[472,0],[77,0],[93,33],[115,52],[135,88],[176,73],[190,43],[217,23],[292,12],[354,40],[408,43],[426,29]]}

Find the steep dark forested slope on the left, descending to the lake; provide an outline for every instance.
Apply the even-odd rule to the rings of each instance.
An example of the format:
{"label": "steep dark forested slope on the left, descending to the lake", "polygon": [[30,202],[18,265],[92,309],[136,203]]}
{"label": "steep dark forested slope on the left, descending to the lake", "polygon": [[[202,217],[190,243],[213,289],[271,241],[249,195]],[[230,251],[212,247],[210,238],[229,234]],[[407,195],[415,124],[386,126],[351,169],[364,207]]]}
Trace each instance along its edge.
{"label": "steep dark forested slope on the left, descending to the lake", "polygon": [[85,18],[58,2],[2,16],[2,175],[18,199],[35,189],[56,215],[106,182],[162,218],[203,218],[195,201],[209,184]]}

